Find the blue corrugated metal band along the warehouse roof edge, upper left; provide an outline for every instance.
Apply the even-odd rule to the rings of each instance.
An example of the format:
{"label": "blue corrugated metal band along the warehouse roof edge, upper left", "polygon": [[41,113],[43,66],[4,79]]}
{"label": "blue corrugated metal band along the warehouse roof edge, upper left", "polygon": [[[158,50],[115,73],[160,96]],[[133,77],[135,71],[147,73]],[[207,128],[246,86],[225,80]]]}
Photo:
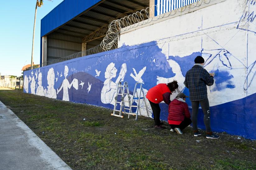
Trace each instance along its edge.
{"label": "blue corrugated metal band along the warehouse roof edge, upper left", "polygon": [[41,20],[41,37],[104,0],[64,0]]}

